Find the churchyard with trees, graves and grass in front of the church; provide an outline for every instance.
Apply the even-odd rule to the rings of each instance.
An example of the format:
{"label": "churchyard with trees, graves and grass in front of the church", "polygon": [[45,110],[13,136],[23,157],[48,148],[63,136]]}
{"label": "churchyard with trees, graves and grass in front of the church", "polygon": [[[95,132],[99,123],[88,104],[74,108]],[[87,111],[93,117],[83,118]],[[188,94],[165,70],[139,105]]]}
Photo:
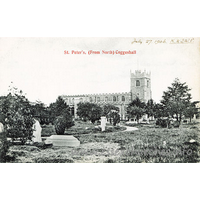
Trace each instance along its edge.
{"label": "churchyard with trees, graves and grass in front of the church", "polygon": [[45,107],[13,88],[0,98],[0,162],[200,162],[199,101],[178,79],[168,89],[160,103],[136,97],[122,120],[113,104],[79,102],[75,112],[60,96]]}

